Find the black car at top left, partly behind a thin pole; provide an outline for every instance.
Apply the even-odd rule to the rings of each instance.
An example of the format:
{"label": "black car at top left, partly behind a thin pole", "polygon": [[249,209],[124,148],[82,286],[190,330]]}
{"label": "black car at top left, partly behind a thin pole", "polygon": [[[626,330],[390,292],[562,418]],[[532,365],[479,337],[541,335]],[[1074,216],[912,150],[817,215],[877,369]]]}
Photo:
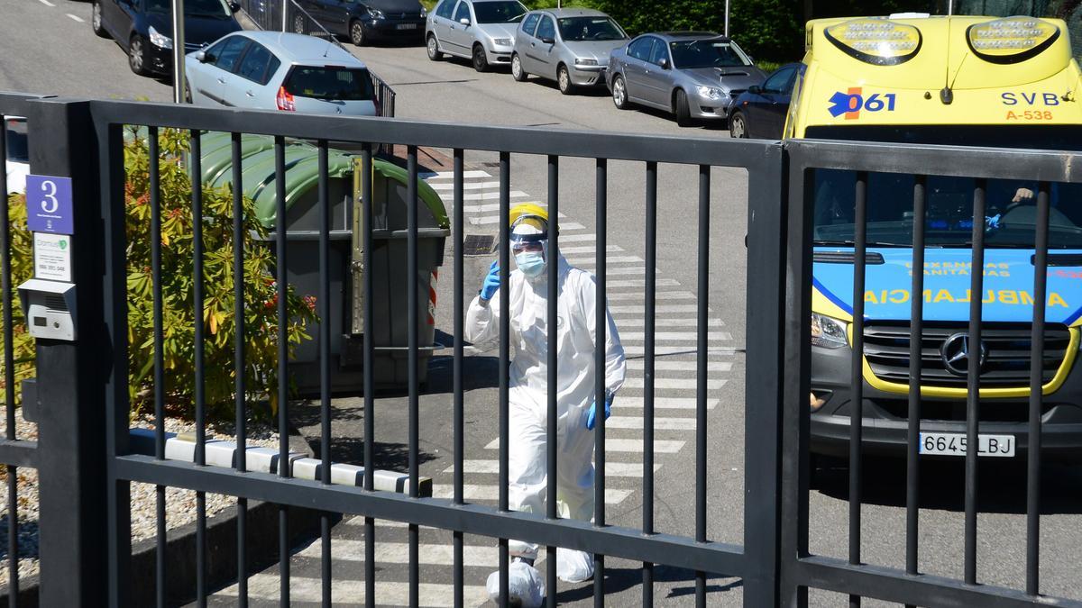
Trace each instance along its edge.
{"label": "black car at top left, partly behind a thin pole", "polygon": [[[140,76],[173,71],[172,0],[92,0],[94,34],[111,37],[128,52],[128,66]],[[226,0],[184,0],[184,51],[197,51],[226,34],[240,31]]]}

